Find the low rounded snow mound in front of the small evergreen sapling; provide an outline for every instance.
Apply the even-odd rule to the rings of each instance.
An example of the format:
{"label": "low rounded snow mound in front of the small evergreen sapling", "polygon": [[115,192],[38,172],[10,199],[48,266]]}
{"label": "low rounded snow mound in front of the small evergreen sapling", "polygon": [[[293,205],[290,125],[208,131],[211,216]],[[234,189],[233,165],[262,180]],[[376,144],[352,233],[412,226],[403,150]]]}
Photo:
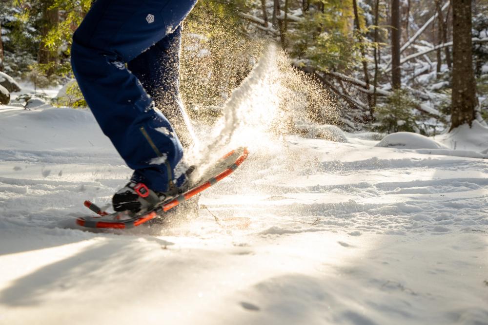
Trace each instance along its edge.
{"label": "low rounded snow mound in front of the small evergreen sapling", "polygon": [[376,145],[376,147],[398,149],[449,149],[444,144],[429,139],[427,136],[411,132],[388,134]]}

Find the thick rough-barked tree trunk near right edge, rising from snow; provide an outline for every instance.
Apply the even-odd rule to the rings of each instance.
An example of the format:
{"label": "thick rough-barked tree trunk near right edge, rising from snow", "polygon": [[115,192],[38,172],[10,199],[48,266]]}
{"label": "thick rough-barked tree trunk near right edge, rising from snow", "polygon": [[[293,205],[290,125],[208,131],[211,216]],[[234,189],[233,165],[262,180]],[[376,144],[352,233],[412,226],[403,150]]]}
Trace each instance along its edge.
{"label": "thick rough-barked tree trunk near right edge, rising from snow", "polygon": [[475,119],[476,89],[471,40],[471,0],[452,0],[451,128]]}

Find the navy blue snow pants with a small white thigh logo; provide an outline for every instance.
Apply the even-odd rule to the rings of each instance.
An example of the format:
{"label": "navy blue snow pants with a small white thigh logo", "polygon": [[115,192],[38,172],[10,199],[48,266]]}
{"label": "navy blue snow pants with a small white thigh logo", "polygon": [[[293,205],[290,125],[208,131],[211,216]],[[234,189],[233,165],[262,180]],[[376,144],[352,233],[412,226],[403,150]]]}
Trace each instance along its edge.
{"label": "navy blue snow pants with a small white thigh logo", "polygon": [[180,23],[196,1],[97,0],[73,36],[71,63],[88,106],[133,180],[154,191],[184,180],[182,144],[155,104],[180,108]]}

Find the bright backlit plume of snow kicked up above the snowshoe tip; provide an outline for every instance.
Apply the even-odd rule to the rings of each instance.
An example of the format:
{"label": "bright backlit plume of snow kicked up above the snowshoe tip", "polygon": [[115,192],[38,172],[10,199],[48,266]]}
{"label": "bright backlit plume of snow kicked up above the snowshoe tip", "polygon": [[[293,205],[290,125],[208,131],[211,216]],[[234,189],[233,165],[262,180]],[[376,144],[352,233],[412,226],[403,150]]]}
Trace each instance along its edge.
{"label": "bright backlit plume of snow kicked up above the snowshoe tip", "polygon": [[295,154],[284,154],[283,137],[290,131],[289,121],[310,124],[307,110],[325,112],[331,120],[337,117],[329,98],[319,88],[293,70],[275,44],[269,45],[255,68],[224,104],[223,116],[213,127],[211,136],[200,139],[200,150],[194,153],[196,165],[204,171],[207,163],[215,161],[229,148],[240,146],[254,154],[281,156],[290,162],[297,160]]}

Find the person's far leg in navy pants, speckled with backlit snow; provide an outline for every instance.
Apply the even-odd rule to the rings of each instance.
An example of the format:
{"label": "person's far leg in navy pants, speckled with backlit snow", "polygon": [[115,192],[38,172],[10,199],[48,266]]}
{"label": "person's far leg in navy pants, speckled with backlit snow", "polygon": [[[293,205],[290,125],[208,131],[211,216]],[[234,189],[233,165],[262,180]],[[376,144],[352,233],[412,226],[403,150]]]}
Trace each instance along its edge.
{"label": "person's far leg in navy pants, speckled with backlit snow", "polygon": [[127,63],[145,91],[170,121],[183,148],[194,144],[195,135],[180,96],[180,48],[182,27]]}

